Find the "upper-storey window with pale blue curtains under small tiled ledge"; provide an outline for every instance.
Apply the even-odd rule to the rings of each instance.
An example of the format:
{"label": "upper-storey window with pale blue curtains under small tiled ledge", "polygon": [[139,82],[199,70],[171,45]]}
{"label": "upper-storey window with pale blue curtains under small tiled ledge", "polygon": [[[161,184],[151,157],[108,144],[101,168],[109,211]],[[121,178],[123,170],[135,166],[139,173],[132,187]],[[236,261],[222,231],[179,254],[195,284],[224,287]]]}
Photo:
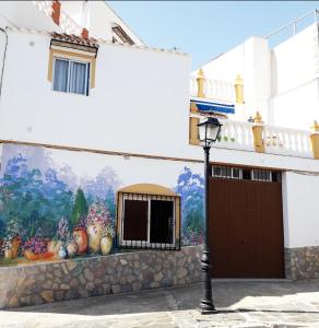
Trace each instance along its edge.
{"label": "upper-storey window with pale blue curtains under small tiled ledge", "polygon": [[55,58],[54,90],[88,95],[90,62]]}

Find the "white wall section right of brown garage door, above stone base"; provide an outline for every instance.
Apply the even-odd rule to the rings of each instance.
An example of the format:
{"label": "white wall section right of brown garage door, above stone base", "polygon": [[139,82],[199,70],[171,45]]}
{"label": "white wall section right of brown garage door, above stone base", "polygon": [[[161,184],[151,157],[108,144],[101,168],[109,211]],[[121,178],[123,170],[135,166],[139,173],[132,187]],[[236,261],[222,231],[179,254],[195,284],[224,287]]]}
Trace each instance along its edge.
{"label": "white wall section right of brown garage door, above stone base", "polygon": [[319,176],[284,174],[285,247],[319,246]]}

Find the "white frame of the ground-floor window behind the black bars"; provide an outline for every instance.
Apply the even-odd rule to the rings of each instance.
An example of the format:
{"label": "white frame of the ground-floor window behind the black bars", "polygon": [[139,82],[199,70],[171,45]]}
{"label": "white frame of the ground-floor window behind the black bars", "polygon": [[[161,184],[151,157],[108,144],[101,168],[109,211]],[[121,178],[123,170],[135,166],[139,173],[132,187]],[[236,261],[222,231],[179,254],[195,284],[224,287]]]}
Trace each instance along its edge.
{"label": "white frame of the ground-floor window behind the black bars", "polygon": [[[161,199],[160,199],[161,197]],[[163,199],[166,198],[166,199]],[[123,229],[125,229],[125,213],[126,213],[126,200],[142,200],[142,201],[147,201],[147,241],[127,241],[123,239]],[[173,202],[173,233],[172,233],[172,243],[151,243],[151,201],[152,200],[162,200],[162,201],[172,201]],[[168,247],[175,247],[176,245],[176,236],[175,236],[175,230],[176,230],[176,197],[173,196],[155,196],[155,195],[139,195],[134,196],[134,199],[132,199],[129,196],[122,197],[122,211],[121,211],[121,218],[120,218],[120,223],[121,223],[121,234],[119,238],[119,246],[125,246],[127,243],[129,243],[132,247],[133,246],[139,246],[143,244],[146,248],[154,248],[152,246],[156,247],[162,247],[163,245],[168,246]]]}

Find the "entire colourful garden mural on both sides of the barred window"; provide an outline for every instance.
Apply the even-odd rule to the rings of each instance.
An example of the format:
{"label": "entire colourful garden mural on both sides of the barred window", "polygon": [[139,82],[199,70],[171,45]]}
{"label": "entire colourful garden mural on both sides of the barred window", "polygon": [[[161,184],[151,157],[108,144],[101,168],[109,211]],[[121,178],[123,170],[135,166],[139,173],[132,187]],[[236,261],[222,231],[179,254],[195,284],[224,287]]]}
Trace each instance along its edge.
{"label": "entire colourful garden mural on both sides of the barred window", "polygon": [[[152,165],[143,161],[143,165]],[[0,266],[116,251],[116,192],[121,186],[149,181],[141,165],[141,160],[128,163],[120,156],[4,144]],[[182,245],[199,244],[203,179],[180,163],[166,169],[170,171],[168,180],[155,183],[168,185],[181,196]]]}

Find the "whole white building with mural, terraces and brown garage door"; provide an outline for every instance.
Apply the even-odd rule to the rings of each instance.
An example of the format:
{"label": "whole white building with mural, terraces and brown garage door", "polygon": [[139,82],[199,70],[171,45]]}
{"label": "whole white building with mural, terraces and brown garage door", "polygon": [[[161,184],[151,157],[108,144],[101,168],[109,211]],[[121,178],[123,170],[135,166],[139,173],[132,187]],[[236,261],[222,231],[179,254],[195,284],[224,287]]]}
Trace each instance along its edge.
{"label": "whole white building with mural, terraces and brown garage door", "polygon": [[[197,124],[213,115],[223,124],[211,150],[215,277],[318,277],[319,134],[308,129],[317,119],[317,23],[274,48],[251,37],[198,75],[188,55],[146,47],[105,2],[2,1],[0,13],[1,266],[29,260],[12,249],[17,236],[19,247],[47,241],[33,254],[38,261],[60,260],[66,251],[50,248],[51,239],[63,248],[96,201],[117,226],[116,250],[175,256],[181,245],[193,254],[203,197]],[[93,251],[85,222],[86,248],[88,235],[90,251],[103,253],[99,242]],[[197,272],[191,266],[176,277],[167,266],[137,289],[119,277],[98,293],[198,279],[186,276]],[[42,302],[57,298],[44,292],[54,296]]]}

